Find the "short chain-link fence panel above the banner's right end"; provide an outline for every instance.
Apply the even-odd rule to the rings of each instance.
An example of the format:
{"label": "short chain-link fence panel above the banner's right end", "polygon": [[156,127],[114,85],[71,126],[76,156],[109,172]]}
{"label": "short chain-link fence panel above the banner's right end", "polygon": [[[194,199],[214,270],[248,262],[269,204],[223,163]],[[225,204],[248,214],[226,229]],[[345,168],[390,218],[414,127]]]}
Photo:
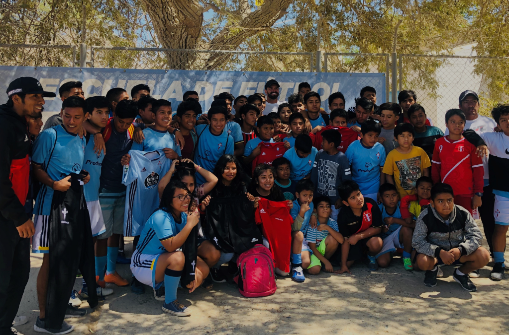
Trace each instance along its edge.
{"label": "short chain-link fence panel above the banner's right end", "polygon": [[[385,74],[385,101],[389,101],[389,54],[388,53],[347,53],[325,52],[324,72],[341,73],[383,73]],[[360,86],[374,86],[364,79]],[[360,93],[360,92],[359,92]]]}

